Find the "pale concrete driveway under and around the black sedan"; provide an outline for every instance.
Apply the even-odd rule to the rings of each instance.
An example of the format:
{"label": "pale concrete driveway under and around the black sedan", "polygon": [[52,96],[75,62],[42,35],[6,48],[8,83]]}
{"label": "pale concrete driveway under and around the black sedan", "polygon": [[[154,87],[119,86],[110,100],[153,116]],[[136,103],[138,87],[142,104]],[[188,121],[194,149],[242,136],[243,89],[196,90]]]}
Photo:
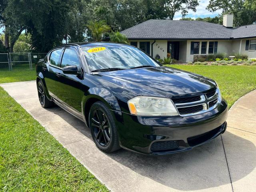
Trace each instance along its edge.
{"label": "pale concrete driveway under and around the black sedan", "polygon": [[222,137],[188,152],[152,157],[100,152],[83,122],[61,108],[40,106],[35,81],[0,86],[113,192],[256,190],[256,90],[232,106]]}

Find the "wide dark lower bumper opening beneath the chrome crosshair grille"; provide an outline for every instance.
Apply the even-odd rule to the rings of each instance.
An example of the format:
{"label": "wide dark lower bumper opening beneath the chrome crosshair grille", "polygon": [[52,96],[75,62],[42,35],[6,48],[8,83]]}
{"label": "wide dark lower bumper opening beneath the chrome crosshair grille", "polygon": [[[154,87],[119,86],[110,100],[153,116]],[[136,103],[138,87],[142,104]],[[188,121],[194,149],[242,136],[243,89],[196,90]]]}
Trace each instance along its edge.
{"label": "wide dark lower bumper opening beneath the chrome crosshair grille", "polygon": [[196,136],[193,136],[193,137],[189,137],[189,138],[187,138],[188,144],[190,146],[195,146],[195,145],[198,145],[200,143],[203,143],[203,142],[209,140],[210,138],[212,138],[218,132],[220,132],[221,128],[222,128],[222,125],[215,128],[214,130],[209,131],[209,132],[206,132],[206,133],[203,133],[203,134],[200,134],[200,135],[196,135]]}

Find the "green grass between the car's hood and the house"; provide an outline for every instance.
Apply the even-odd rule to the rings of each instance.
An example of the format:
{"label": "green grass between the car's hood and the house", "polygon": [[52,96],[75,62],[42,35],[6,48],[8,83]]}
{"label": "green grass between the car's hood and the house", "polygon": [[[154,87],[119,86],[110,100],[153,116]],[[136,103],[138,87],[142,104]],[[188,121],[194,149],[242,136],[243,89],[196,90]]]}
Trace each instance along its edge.
{"label": "green grass between the car's hood and the house", "polygon": [[209,77],[220,87],[230,108],[236,100],[256,89],[256,66],[167,65]]}

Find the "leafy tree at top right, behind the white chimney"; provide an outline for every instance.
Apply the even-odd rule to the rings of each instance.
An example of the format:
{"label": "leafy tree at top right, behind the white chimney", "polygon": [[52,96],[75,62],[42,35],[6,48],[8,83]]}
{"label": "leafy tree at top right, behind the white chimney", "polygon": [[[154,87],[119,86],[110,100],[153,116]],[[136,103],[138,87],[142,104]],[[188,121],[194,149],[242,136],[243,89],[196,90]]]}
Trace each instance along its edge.
{"label": "leafy tree at top right, behind the white chimney", "polygon": [[[248,2],[253,0],[248,0]],[[255,1],[255,0],[254,0]],[[255,10],[250,6],[245,6],[246,0],[210,0],[206,9],[211,12],[222,10],[222,15],[233,14],[234,26],[252,24],[256,18]]]}

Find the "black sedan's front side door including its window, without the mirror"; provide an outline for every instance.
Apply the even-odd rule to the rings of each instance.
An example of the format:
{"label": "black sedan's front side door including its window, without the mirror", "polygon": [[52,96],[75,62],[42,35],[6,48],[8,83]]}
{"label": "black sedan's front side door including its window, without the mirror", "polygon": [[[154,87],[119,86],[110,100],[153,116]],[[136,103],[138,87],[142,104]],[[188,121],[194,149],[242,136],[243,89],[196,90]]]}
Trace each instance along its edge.
{"label": "black sedan's front side door including its window, without the mirror", "polygon": [[[81,68],[76,50],[74,48],[65,48],[60,68],[71,65]],[[82,97],[84,94],[81,86],[83,78],[78,75],[64,74],[61,69],[56,71],[56,94],[58,101],[65,108],[82,117]]]}

